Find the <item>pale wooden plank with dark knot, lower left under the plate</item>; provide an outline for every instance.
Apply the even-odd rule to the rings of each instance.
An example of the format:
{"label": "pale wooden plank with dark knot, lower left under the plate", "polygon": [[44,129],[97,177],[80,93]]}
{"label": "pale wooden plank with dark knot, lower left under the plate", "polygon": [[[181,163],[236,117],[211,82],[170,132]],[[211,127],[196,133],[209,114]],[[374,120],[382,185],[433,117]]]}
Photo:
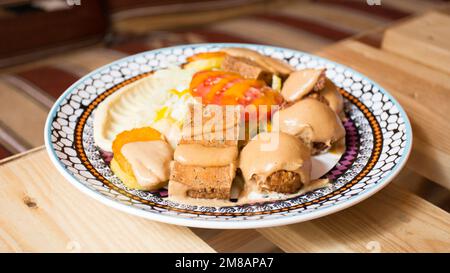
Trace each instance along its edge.
{"label": "pale wooden plank with dark knot, lower left under the plate", "polygon": [[0,165],[0,252],[213,252],[185,227],[131,216],[87,197],[45,150]]}

